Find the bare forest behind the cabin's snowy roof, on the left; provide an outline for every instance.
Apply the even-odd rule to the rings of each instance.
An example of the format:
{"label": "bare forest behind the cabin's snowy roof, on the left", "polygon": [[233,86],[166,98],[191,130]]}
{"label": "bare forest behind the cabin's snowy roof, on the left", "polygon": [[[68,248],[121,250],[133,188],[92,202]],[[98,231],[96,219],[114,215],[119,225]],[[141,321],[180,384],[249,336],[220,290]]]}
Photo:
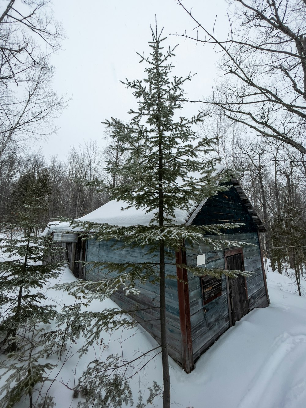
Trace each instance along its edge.
{"label": "bare forest behind the cabin's snowy roof, on the left", "polygon": [[[23,157],[11,155],[1,161],[1,217],[14,218],[23,203],[23,193],[44,175],[49,212],[42,227],[58,216],[78,218],[107,201],[103,180],[103,152],[96,142],[73,147],[64,161],[52,157],[47,162],[39,151]],[[98,191],[98,192],[97,192]],[[16,204],[18,206],[16,207]]]}

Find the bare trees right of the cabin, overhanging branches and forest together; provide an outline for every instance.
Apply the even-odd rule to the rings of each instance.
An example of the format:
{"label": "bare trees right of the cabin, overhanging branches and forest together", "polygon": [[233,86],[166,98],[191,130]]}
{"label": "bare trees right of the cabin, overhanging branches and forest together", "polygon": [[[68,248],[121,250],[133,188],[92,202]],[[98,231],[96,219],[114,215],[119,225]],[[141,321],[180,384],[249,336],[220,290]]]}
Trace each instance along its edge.
{"label": "bare trees right of the cabin, overhanging branches and forest together", "polygon": [[[228,2],[228,34],[176,0],[193,29],[177,34],[220,53],[203,131],[217,139],[221,162],[239,171],[242,187],[262,217],[272,268],[304,274],[306,217],[305,0]],[[216,18],[217,20],[217,18]],[[204,47],[204,49],[206,49]],[[299,294],[300,294],[300,289]]]}

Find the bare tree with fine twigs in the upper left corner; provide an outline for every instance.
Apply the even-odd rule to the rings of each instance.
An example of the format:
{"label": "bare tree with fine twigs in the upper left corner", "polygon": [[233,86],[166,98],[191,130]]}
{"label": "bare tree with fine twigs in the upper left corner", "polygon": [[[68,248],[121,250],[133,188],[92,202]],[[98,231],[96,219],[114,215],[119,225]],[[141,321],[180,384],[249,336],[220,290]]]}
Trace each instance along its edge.
{"label": "bare tree with fine twigs in the upper left corner", "polygon": [[0,11],[0,159],[29,138],[55,129],[52,118],[65,98],[51,90],[53,67],[49,55],[58,50],[62,27],[49,0],[2,2]]}

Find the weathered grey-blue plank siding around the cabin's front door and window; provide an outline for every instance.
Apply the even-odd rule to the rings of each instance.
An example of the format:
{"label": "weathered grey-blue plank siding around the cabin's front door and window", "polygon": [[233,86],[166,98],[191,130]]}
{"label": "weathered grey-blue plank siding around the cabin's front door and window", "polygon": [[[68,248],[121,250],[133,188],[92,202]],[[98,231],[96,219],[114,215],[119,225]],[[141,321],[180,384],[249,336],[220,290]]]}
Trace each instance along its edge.
{"label": "weathered grey-blue plank siding around the cabin's front door and window", "polygon": [[[224,239],[222,236],[210,236],[210,238]],[[268,306],[257,232],[226,234],[226,239],[255,245],[243,247],[245,270],[253,272],[250,277],[246,278],[249,307],[252,310],[255,307]],[[194,248],[186,246],[187,265],[197,265],[197,255],[203,253],[205,253],[206,258],[203,274],[205,274],[205,268],[225,268],[224,251],[212,251],[207,245],[197,245]],[[203,304],[200,277],[189,273],[188,286],[193,358],[197,359],[230,327],[226,278],[222,276],[222,295],[206,305]]]}

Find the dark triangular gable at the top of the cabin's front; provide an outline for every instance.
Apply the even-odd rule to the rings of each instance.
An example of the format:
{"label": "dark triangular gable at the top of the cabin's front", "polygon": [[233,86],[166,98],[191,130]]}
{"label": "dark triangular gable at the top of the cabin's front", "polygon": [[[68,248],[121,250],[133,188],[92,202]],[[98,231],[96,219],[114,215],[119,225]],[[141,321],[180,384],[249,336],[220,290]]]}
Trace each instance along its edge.
{"label": "dark triangular gable at the top of the cabin's front", "polygon": [[[256,224],[242,203],[236,189],[231,187],[224,192],[219,192],[214,197],[208,198],[204,206],[193,220],[193,225],[244,223],[231,232],[247,233],[256,232]],[[230,231],[222,231],[230,233]]]}

